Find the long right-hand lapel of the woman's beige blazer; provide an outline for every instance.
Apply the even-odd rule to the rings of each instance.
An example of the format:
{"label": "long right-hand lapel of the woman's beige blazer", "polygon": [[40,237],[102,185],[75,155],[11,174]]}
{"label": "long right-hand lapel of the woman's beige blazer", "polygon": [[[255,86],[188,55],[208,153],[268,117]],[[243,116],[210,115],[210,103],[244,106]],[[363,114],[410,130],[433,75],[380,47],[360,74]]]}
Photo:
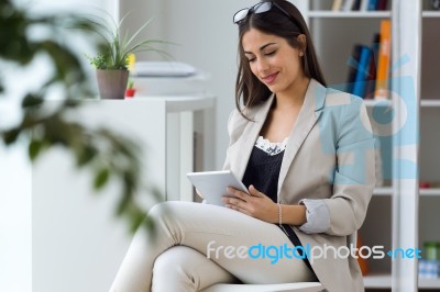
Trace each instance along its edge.
{"label": "long right-hand lapel of the woman's beige blazer", "polygon": [[290,164],[294,161],[295,156],[299,150],[299,147],[301,147],[302,142],[306,139],[307,135],[310,133],[311,128],[322,113],[326,101],[326,90],[327,89],[318,81],[316,81],[315,79],[310,79],[302,108],[299,111],[295,126],[290,132],[287,147],[284,153],[278,179],[278,194],[286,178],[287,171],[290,167]]}

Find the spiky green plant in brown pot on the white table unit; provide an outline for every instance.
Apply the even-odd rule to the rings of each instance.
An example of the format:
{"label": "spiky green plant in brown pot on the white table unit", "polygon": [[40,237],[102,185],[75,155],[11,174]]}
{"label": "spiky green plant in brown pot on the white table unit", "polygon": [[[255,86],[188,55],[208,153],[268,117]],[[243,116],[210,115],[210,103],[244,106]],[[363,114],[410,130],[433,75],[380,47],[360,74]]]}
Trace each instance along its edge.
{"label": "spiky green plant in brown pot on the white table unit", "polygon": [[140,33],[150,24],[151,20],[146,21],[132,35],[129,35],[129,33],[121,35],[121,25],[125,18],[127,15],[122,18],[119,24],[111,18],[111,21],[106,21],[102,18],[89,20],[94,24],[91,27],[95,27],[95,32],[105,41],[102,50],[95,57],[86,55],[90,64],[97,69],[96,74],[101,99],[124,98],[130,74],[129,57],[131,55],[134,56],[134,53],[153,50],[168,56],[162,49],[153,46],[154,44],[165,44],[167,42],[153,38],[135,41]]}

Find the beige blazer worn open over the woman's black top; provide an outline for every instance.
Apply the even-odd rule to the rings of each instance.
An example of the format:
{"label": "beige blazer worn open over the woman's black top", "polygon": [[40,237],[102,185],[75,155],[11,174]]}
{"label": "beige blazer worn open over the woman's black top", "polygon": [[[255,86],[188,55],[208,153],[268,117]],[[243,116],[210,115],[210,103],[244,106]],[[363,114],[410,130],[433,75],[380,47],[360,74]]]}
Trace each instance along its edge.
{"label": "beige blazer worn open over the woman's black top", "polygon": [[[229,119],[230,144],[223,169],[243,178],[255,141],[274,97]],[[292,130],[278,179],[278,201],[298,204],[301,199],[323,200],[330,213],[324,233],[306,234],[294,227],[302,246],[355,247],[375,186],[374,136],[362,99],[327,89],[311,79],[302,108]],[[318,251],[317,251],[318,252]],[[342,252],[344,254],[344,252]],[[356,259],[310,258],[319,281],[328,291],[364,291]],[[295,272],[295,271],[292,271]]]}

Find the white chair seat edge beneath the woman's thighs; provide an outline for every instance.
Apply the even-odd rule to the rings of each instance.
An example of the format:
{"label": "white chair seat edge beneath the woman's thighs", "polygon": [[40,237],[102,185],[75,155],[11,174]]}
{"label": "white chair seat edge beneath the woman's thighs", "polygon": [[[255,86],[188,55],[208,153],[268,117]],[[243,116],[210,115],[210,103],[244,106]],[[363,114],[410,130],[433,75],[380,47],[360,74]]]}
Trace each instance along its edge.
{"label": "white chair seat edge beneath the woman's thighs", "polygon": [[323,290],[319,282],[285,284],[213,284],[200,292],[317,292]]}

